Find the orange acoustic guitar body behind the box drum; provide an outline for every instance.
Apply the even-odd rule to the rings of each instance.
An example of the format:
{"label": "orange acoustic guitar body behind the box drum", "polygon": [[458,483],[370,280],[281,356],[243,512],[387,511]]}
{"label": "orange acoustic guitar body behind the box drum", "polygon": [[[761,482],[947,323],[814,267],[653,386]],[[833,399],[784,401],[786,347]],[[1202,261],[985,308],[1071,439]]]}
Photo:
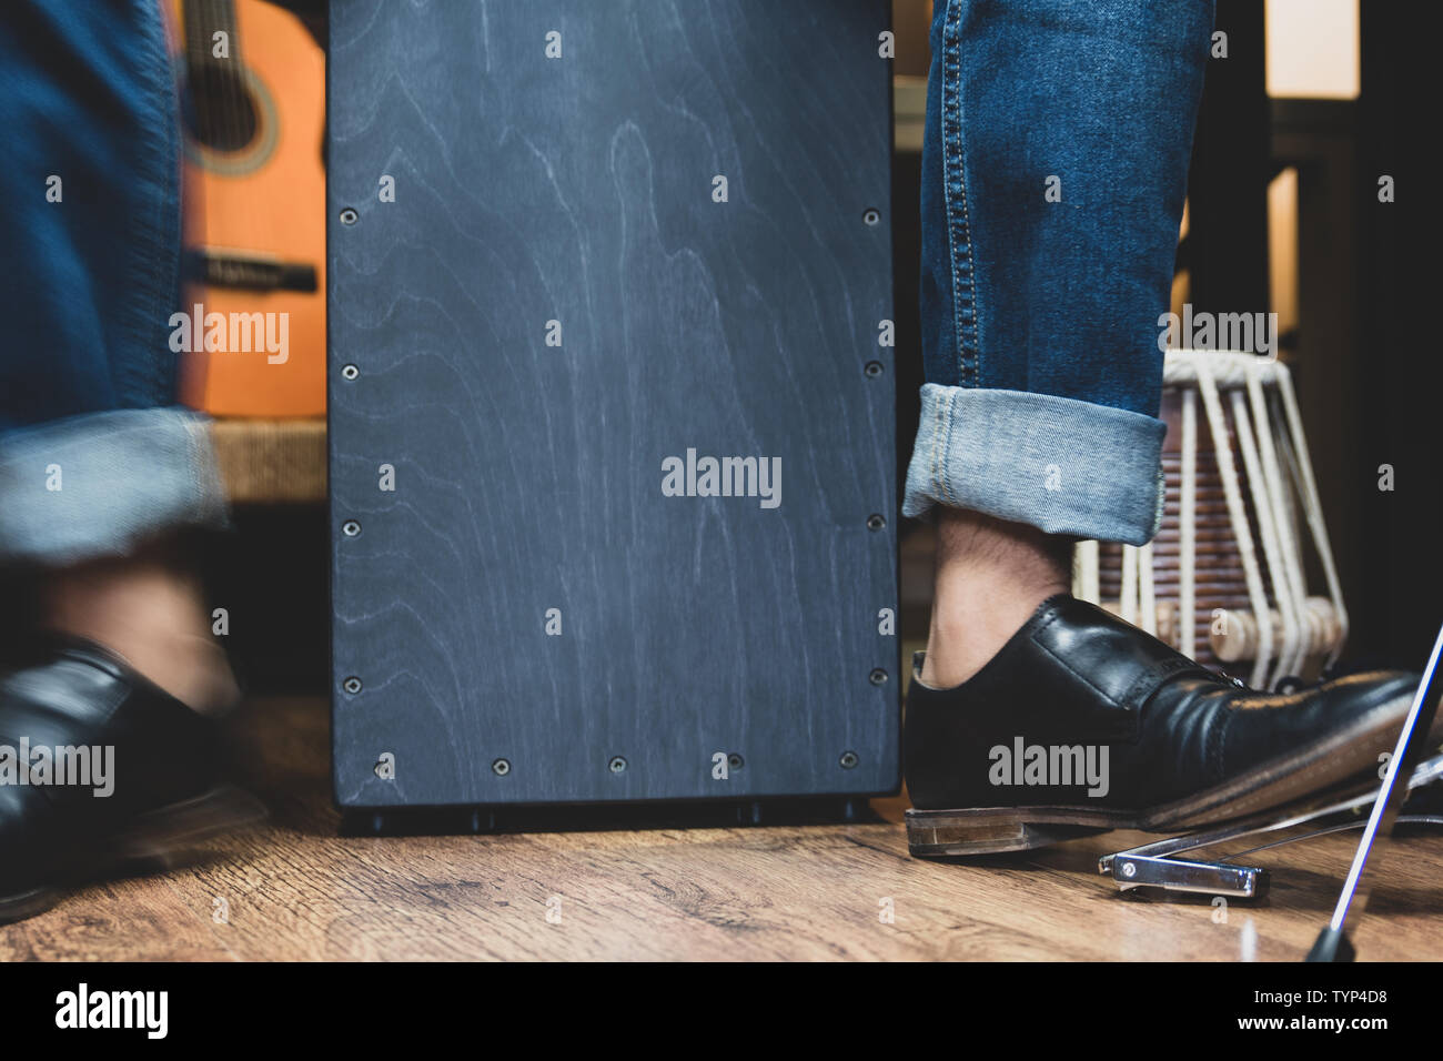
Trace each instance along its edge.
{"label": "orange acoustic guitar body behind the box drum", "polygon": [[[234,342],[235,329],[227,328],[224,348],[205,349],[196,329],[183,361],[182,400],[216,416],[323,416],[325,53],[296,16],[261,0],[232,0],[221,13],[215,4],[182,0],[179,12],[186,38],[205,46],[188,49],[182,82],[190,264],[185,309],[195,316],[195,305],[203,307],[198,323],[211,313],[227,322],[261,313],[270,346],[286,341],[273,352],[266,342],[245,342],[244,332]],[[216,19],[231,38],[224,59],[209,55]],[[286,279],[277,281],[278,273]]]}

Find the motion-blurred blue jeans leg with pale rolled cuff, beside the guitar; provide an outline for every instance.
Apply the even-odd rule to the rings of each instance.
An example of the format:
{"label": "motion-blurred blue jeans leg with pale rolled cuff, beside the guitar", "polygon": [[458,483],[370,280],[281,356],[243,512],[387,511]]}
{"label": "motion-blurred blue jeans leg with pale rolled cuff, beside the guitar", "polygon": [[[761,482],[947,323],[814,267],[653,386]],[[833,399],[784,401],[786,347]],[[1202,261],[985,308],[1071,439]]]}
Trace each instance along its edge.
{"label": "motion-blurred blue jeans leg with pale rolled cuff, beside the guitar", "polygon": [[180,130],[159,0],[4,0],[0,130],[0,563],[224,523],[205,419],[170,407]]}

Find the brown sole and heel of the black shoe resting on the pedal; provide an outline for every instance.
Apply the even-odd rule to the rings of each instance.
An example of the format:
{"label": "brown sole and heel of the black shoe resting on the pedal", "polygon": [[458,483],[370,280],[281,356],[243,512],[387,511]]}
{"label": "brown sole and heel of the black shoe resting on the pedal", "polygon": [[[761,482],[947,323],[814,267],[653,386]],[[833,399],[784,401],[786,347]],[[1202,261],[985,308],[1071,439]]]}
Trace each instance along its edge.
{"label": "brown sole and heel of the black shoe resting on the pedal", "polygon": [[[1114,829],[1185,831],[1280,807],[1375,771],[1378,756],[1392,751],[1411,702],[1408,693],[1375,707],[1346,729],[1270,759],[1225,784],[1144,810],[1087,805],[909,810],[908,850],[922,859],[1023,852]],[[1429,733],[1430,742],[1439,739],[1443,739],[1443,716]]]}

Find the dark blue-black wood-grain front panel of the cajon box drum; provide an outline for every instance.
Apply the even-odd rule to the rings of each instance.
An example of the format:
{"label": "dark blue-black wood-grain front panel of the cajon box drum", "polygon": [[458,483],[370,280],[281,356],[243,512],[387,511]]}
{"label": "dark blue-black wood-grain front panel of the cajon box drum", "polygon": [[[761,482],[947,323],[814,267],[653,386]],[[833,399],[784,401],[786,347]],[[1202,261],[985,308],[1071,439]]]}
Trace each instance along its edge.
{"label": "dark blue-black wood-grain front panel of the cajon box drum", "polygon": [[[332,3],[342,805],[895,790],[886,19]],[[781,504],[665,497],[688,449]]]}

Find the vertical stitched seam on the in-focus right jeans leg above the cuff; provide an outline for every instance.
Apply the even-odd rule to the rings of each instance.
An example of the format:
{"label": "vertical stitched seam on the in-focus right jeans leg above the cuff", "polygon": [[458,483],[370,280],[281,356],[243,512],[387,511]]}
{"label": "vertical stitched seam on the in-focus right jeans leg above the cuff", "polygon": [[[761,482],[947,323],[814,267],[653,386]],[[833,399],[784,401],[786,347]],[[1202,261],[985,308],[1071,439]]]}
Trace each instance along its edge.
{"label": "vertical stitched seam on the in-focus right jeans leg above the cuff", "polygon": [[[958,6],[954,19],[952,9]],[[942,79],[942,144],[945,149],[945,172],[942,195],[947,202],[948,257],[952,266],[952,328],[957,332],[958,383],[975,387],[981,377],[981,348],[977,335],[977,289],[975,263],[973,256],[973,225],[967,209],[967,173],[962,160],[962,92],[961,92],[961,10],[960,0],[947,0]],[[952,204],[952,179],[955,172],[957,193],[961,202],[961,218]],[[960,250],[961,248],[961,250]],[[964,261],[965,264],[960,264]],[[967,276],[962,283],[962,273]],[[968,352],[971,359],[968,361]]]}

